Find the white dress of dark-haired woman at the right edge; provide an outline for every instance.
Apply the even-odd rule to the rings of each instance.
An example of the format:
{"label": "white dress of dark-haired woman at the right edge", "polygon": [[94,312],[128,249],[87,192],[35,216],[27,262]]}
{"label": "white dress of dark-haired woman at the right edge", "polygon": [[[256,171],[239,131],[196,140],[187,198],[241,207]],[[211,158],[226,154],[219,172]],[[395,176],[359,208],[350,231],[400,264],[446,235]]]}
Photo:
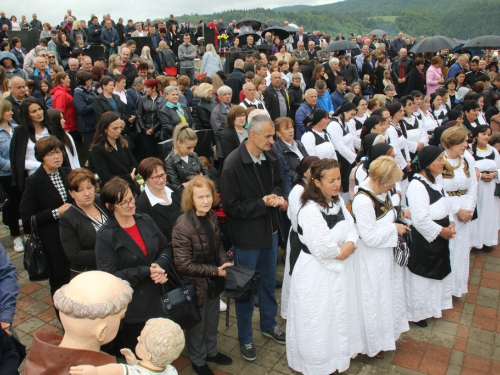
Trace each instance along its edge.
{"label": "white dress of dark-haired woman at the right edge", "polygon": [[[479,172],[497,172],[500,176],[500,155],[488,145],[486,151],[476,151],[476,168]],[[481,249],[484,245],[498,245],[498,230],[500,229],[500,199],[495,197],[497,177],[490,182],[478,181],[477,214],[478,218],[471,222],[472,246]]]}

